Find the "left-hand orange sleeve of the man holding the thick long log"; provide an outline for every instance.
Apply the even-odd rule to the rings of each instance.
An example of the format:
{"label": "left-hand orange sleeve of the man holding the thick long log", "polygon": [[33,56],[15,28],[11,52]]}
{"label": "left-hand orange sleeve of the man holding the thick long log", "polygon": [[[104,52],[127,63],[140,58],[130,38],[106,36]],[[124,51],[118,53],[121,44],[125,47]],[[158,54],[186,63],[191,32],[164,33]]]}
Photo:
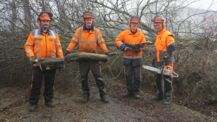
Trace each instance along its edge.
{"label": "left-hand orange sleeve of the man holding the thick long log", "polygon": [[79,37],[80,29],[81,28],[76,29],[74,36],[72,37],[68,47],[66,48],[68,52],[72,52],[74,47],[78,44],[78,37]]}

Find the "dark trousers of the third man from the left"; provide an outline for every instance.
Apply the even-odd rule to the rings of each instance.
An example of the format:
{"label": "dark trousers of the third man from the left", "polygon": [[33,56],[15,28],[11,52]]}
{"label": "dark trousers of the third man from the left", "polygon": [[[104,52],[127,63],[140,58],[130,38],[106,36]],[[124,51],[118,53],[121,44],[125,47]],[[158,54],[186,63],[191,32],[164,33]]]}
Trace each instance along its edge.
{"label": "dark trousers of the third man from the left", "polygon": [[129,94],[139,92],[141,62],[141,59],[124,59],[127,90]]}

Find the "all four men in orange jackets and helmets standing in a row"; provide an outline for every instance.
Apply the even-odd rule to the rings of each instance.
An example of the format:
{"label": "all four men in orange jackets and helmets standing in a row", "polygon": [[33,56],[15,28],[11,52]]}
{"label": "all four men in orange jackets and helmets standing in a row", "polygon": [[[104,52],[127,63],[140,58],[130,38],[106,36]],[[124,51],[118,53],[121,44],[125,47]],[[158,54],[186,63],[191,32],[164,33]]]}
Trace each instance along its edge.
{"label": "all four men in orange jackets and helmets standing in a row", "polygon": [[[83,13],[83,26],[76,29],[66,51],[62,50],[59,36],[50,29],[52,22],[52,13],[42,11],[38,16],[39,29],[33,30],[24,45],[26,55],[32,65],[36,59],[62,58],[69,55],[75,47],[78,52],[99,53],[108,55],[109,50],[106,47],[102,32],[94,26],[94,15],[92,12]],[[173,69],[174,65],[174,37],[167,31],[165,19],[162,16],[154,17],[153,25],[157,37],[155,40],[155,58],[153,65],[155,67],[167,67]],[[139,29],[140,21],[137,17],[131,17],[129,28],[122,31],[114,40],[115,46],[123,52],[123,64],[126,71],[127,93],[125,96],[139,99],[141,66],[143,62],[143,52],[146,48],[146,38]],[[81,102],[86,103],[89,100],[90,92],[88,87],[88,73],[91,70],[96,85],[99,89],[99,96],[102,102],[108,103],[109,98],[106,94],[105,83],[101,73],[101,66],[97,60],[79,61],[80,79],[82,86]],[[29,97],[29,111],[36,111],[40,96],[42,80],[44,83],[44,101],[47,107],[54,107],[54,80],[56,69],[45,69],[37,65],[33,66],[33,78]],[[162,86],[162,81],[164,86]],[[163,101],[165,105],[171,104],[172,99],[172,77],[158,74],[156,76],[157,94],[152,100]],[[163,88],[162,88],[163,87]]]}

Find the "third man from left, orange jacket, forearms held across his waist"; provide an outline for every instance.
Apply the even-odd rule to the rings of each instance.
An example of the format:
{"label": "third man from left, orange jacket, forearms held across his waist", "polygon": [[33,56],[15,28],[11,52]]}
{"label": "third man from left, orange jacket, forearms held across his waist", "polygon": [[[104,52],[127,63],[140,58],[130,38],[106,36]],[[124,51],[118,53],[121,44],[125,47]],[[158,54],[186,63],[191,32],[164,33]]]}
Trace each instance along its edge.
{"label": "third man from left, orange jacket, forearms held across his waist", "polygon": [[140,75],[142,65],[142,53],[146,46],[143,32],[138,29],[139,19],[132,17],[129,29],[121,32],[115,45],[123,51],[123,63],[126,70],[127,95],[128,97],[141,98],[139,95]]}

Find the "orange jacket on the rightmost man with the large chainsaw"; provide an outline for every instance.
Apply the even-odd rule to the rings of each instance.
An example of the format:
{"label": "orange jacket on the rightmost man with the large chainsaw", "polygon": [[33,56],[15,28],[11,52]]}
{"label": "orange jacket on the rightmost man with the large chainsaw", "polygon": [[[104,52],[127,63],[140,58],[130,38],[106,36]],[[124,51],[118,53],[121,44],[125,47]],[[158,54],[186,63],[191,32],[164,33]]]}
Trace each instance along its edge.
{"label": "orange jacket on the rightmost man with the large chainsaw", "polygon": [[169,45],[174,44],[175,39],[166,28],[158,32],[157,38],[155,40],[155,51],[156,51],[156,61],[160,62],[165,53],[167,53],[167,48]]}

